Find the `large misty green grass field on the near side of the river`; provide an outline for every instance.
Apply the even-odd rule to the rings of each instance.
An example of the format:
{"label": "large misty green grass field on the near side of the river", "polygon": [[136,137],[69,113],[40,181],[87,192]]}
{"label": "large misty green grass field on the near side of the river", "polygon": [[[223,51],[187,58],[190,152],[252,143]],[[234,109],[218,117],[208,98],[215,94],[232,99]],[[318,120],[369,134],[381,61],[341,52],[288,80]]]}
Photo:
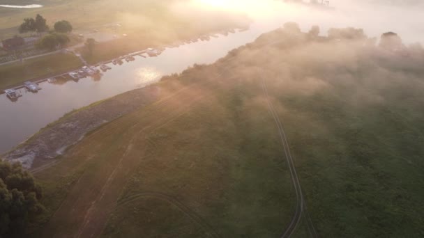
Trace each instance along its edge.
{"label": "large misty green grass field on the near side of the river", "polygon": [[423,52],[409,53],[280,29],[167,77],[158,102],[36,174],[32,234],[280,237],[296,198],[263,78],[319,237],[423,237]]}

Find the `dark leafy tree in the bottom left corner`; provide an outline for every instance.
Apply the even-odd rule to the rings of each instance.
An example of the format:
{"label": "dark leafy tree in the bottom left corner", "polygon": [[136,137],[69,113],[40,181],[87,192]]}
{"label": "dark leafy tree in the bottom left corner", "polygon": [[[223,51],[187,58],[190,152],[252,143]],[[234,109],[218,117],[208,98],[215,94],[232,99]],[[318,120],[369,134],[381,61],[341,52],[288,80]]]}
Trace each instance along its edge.
{"label": "dark leafy tree in the bottom left corner", "polygon": [[0,160],[0,237],[20,233],[43,212],[42,196],[41,187],[21,164]]}

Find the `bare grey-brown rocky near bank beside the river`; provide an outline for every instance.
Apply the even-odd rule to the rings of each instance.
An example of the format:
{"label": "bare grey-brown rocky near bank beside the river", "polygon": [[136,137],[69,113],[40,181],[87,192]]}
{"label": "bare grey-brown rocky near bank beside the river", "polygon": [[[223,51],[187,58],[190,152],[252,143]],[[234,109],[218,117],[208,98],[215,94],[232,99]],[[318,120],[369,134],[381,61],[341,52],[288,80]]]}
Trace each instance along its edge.
{"label": "bare grey-brown rocky near bank beside the river", "polygon": [[160,90],[156,86],[147,86],[66,113],[4,154],[3,158],[20,161],[24,168],[45,166],[60,156],[68,146],[80,141],[87,132],[154,102],[159,95]]}

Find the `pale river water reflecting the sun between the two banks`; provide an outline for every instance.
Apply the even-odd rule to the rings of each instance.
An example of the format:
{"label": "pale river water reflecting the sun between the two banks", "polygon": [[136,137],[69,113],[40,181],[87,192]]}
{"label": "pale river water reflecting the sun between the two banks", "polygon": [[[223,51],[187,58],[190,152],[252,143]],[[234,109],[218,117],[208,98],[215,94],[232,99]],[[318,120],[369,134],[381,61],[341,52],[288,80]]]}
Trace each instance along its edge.
{"label": "pale river water reflecting the sun between the two banks", "polygon": [[[257,9],[259,11],[259,8]],[[229,50],[252,42],[262,33],[276,29],[287,21],[298,22],[305,31],[315,24],[321,26],[321,32],[326,32],[331,26],[351,25],[363,27],[368,35],[377,36],[386,30],[381,29],[379,22],[369,24],[367,21],[370,18],[365,16],[362,17],[365,19],[363,22],[352,22],[352,19],[358,19],[356,15],[349,17],[339,10],[321,11],[304,6],[295,8],[276,1],[272,1],[271,8],[261,9],[260,14],[256,12],[251,17],[254,22],[248,31],[167,48],[160,56],[154,58],[135,56],[136,60],[130,63],[109,64],[112,70],[104,72],[100,79],[87,77],[78,82],[70,80],[63,84],[50,84],[46,81],[39,85],[43,89],[38,93],[20,89],[23,96],[17,102],[11,102],[4,94],[0,95],[0,154],[73,109],[146,86],[158,81],[162,75],[181,72],[195,63],[213,63],[225,56]],[[386,24],[391,25],[391,29],[407,35],[410,40],[417,37],[411,33],[415,30],[410,25],[405,29],[402,24]],[[423,32],[421,31],[419,36],[423,36]]]}

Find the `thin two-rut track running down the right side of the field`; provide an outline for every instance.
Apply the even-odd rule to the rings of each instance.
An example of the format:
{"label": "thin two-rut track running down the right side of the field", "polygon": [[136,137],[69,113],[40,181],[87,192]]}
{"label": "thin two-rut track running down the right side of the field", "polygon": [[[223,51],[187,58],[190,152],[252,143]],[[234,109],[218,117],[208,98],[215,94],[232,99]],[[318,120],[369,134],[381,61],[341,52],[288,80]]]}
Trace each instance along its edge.
{"label": "thin two-rut track running down the right side of the field", "polygon": [[289,226],[286,228],[285,232],[281,235],[281,237],[285,238],[285,237],[291,237],[293,235],[298,224],[301,222],[302,215],[304,213],[307,216],[306,222],[307,222],[310,237],[318,237],[317,231],[315,230],[315,227],[312,223],[312,219],[310,218],[310,215],[308,214],[308,210],[306,209],[305,198],[303,198],[301,183],[298,180],[296,167],[294,166],[292,153],[290,152],[289,143],[287,142],[287,136],[285,134],[284,127],[282,126],[282,122],[280,121],[280,118],[278,117],[278,114],[276,113],[275,108],[274,108],[271,100],[269,100],[268,88],[266,86],[266,82],[265,82],[263,77],[261,77],[261,84],[262,84],[262,90],[264,91],[264,94],[266,96],[266,103],[268,104],[268,111],[271,114],[271,116],[273,116],[273,119],[275,121],[275,125],[277,125],[277,127],[278,127],[278,133],[280,134],[282,148],[284,149],[285,158],[287,160],[287,164],[288,164],[289,170],[290,170],[290,177],[292,178],[292,184],[293,184],[294,190],[296,192],[296,210],[294,212],[294,216],[292,218],[292,221],[290,222]]}

